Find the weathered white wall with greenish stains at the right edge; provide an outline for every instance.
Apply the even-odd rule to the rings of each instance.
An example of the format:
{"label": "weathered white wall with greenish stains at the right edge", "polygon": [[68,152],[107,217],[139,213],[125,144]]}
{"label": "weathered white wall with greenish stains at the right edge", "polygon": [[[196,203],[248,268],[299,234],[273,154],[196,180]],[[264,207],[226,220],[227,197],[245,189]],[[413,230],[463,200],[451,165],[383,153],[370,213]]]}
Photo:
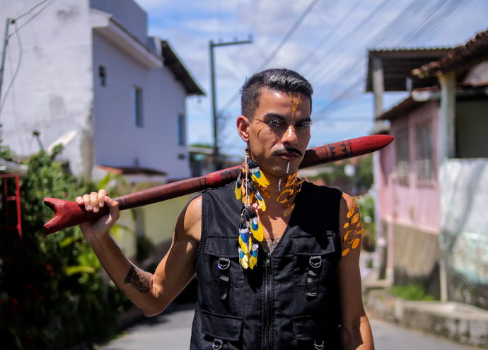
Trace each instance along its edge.
{"label": "weathered white wall with greenish stains at the right edge", "polygon": [[448,297],[488,309],[488,159],[450,159],[440,181]]}

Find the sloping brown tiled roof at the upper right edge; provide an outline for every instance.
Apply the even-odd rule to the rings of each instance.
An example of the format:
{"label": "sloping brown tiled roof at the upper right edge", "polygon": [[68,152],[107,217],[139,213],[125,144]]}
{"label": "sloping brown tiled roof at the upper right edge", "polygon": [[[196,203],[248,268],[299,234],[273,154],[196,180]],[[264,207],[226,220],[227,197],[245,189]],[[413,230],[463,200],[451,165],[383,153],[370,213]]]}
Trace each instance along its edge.
{"label": "sloping brown tiled roof at the upper right edge", "polygon": [[453,69],[463,69],[488,59],[488,30],[477,33],[475,37],[465,45],[455,47],[452,52],[441,59],[424,64],[420,68],[412,70],[414,76],[429,78],[442,75]]}

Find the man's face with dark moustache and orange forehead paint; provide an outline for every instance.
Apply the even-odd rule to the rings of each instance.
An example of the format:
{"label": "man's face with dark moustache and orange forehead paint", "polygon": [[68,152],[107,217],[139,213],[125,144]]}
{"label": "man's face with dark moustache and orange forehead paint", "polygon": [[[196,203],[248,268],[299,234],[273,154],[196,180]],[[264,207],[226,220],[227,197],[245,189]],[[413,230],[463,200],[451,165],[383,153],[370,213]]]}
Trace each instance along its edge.
{"label": "man's face with dark moustache and orange forehead paint", "polygon": [[254,118],[241,120],[247,127],[241,132],[244,129],[238,119],[240,136],[248,142],[251,158],[267,176],[282,177],[298,170],[310,141],[308,97],[262,88]]}

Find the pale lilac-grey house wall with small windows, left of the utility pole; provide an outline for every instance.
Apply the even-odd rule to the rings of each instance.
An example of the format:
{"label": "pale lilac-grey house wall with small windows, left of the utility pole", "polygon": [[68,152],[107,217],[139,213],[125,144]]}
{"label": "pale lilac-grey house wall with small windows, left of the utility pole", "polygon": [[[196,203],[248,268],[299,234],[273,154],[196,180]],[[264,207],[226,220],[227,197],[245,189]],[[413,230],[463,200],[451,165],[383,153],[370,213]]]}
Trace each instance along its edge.
{"label": "pale lilac-grey house wall with small windows, left of the utility pole", "polygon": [[[107,72],[105,87],[98,78],[100,65]],[[146,69],[95,32],[93,66],[95,164],[138,162],[140,167],[165,171],[168,179],[189,177],[187,148],[177,139],[177,116],[185,115],[186,92],[169,69]],[[143,127],[134,124],[133,86],[143,91]]]}

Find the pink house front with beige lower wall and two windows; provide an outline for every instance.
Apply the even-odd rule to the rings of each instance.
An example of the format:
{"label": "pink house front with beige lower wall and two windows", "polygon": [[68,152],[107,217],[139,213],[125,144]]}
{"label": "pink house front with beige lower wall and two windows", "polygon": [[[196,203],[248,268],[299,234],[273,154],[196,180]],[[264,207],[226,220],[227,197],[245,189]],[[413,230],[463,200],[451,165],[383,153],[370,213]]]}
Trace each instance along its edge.
{"label": "pink house front with beige lower wall and two windows", "polygon": [[380,152],[380,219],[388,243],[386,266],[395,284],[424,284],[438,295],[441,209],[436,133],[438,100],[413,91],[380,120],[390,120],[391,147]]}

